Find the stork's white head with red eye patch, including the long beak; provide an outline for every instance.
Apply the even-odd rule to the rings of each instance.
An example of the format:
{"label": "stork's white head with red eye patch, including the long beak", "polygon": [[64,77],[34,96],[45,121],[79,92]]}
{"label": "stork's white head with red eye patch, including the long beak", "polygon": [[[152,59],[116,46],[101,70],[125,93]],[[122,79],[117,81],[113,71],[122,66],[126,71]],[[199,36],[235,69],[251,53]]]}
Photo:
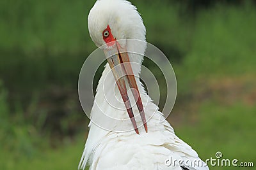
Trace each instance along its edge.
{"label": "stork's white head with red eye patch, including the long beak", "polygon": [[[98,47],[104,50],[108,59],[108,64],[116,80],[118,89],[124,101],[127,113],[131,118],[132,125],[136,133],[138,128],[132,112],[131,103],[127,95],[125,80],[128,81],[132,95],[136,101],[141,119],[147,132],[145,113],[141,102],[140,92],[134,78],[134,66],[130,64],[137,62],[141,64],[141,55],[132,55],[131,46],[141,48],[140,53],[145,52],[145,43],[136,45],[129,43],[126,39],[138,39],[145,41],[145,26],[140,14],[129,1],[125,0],[98,0],[93,6],[88,16],[88,27],[90,36]],[[119,41],[120,39],[124,39]],[[132,70],[133,69],[133,70]],[[135,69],[136,74],[137,70]]]}

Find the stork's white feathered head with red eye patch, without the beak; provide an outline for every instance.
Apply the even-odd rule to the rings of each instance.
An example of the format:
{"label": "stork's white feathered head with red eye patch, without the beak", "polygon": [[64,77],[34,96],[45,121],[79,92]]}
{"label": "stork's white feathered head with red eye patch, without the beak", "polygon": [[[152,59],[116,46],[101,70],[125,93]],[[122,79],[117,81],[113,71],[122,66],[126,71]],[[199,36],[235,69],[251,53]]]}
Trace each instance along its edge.
{"label": "stork's white feathered head with red eye patch, without the beak", "polygon": [[97,1],[89,13],[88,27],[90,36],[98,47],[115,39],[145,41],[143,20],[129,1]]}

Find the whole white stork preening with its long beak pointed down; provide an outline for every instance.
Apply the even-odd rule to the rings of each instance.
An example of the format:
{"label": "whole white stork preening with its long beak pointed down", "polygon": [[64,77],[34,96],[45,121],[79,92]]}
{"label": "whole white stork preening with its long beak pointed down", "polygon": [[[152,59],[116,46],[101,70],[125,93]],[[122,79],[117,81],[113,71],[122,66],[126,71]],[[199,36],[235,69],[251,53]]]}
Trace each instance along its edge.
{"label": "whole white stork preening with its long beak pointed down", "polygon": [[[95,45],[100,47],[108,43],[106,48],[100,47],[106,55],[117,52],[115,56],[108,58],[108,64],[99,80],[91,118],[97,117],[100,110],[106,111],[109,117],[124,120],[131,118],[129,122],[118,122],[115,127],[127,127],[132,131],[109,131],[91,121],[79,169],[84,169],[86,165],[90,166],[90,169],[99,170],[209,169],[195,150],[175,135],[172,126],[166,120],[159,122],[163,119],[163,113],[158,111],[156,104],[151,100],[148,101],[150,98],[138,78],[143,57],[120,53],[120,51],[129,51],[134,48],[141,53],[145,52],[146,46],[136,46],[128,41],[118,43],[119,39],[145,41],[145,26],[136,7],[125,0],[98,0],[89,13],[88,28]],[[132,67],[127,64],[125,67],[115,68],[118,64],[129,60],[139,64]],[[118,74],[122,71],[135,76],[129,74],[125,80],[118,79]],[[109,72],[113,74],[109,76]],[[107,76],[109,77],[106,78]],[[138,93],[132,91],[133,97],[137,99],[132,108],[127,87],[138,90]],[[113,94],[111,90],[108,91],[108,88],[115,89],[117,93]],[[122,105],[120,108],[126,110],[111,106],[106,98],[123,100],[124,103],[118,101],[119,103],[116,102],[116,104]],[[145,103],[147,103],[147,109],[143,108]],[[153,114],[152,111],[155,110],[157,111]],[[140,115],[140,120],[134,118],[135,115]],[[140,127],[137,126],[137,121],[141,123]]]}

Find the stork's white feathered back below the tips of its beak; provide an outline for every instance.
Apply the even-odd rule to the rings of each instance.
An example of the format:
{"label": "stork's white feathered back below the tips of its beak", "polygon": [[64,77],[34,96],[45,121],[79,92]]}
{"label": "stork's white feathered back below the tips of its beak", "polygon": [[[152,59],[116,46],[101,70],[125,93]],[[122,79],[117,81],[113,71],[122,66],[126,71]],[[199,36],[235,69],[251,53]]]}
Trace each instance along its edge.
{"label": "stork's white feathered back below the tips of its beak", "polygon": [[148,133],[142,132],[142,127],[140,135],[133,131],[106,132],[93,146],[90,169],[209,169],[166,120],[159,122],[161,117],[157,111],[149,120]]}

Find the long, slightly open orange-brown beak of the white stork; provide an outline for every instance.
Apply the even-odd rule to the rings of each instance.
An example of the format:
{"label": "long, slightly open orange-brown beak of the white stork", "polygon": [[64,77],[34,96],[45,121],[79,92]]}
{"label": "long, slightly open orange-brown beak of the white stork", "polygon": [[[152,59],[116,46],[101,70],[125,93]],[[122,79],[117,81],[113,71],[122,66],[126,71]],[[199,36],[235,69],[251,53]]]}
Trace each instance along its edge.
{"label": "long, slightly open orange-brown beak of the white stork", "polygon": [[131,107],[131,102],[128,97],[127,88],[125,85],[125,79],[129,83],[129,87],[132,91],[132,96],[134,97],[136,101],[136,105],[138,107],[138,110],[140,111],[141,120],[143,122],[143,125],[145,127],[145,131],[148,132],[147,128],[147,122],[145,118],[145,113],[143,109],[143,105],[141,102],[140,92],[138,90],[138,85],[136,83],[136,80],[134,78],[134,74],[132,71],[132,66],[129,61],[129,55],[126,52],[125,48],[122,48],[117,41],[115,41],[115,47],[113,49],[104,50],[104,53],[107,57],[109,66],[111,67],[111,71],[115,77],[116,84],[118,86],[118,89],[120,91],[120,94],[122,96],[122,99],[125,104],[125,108],[128,112],[128,115],[131,119],[132,125],[134,127],[134,131],[139,134],[138,127],[134,118],[134,114]]}

